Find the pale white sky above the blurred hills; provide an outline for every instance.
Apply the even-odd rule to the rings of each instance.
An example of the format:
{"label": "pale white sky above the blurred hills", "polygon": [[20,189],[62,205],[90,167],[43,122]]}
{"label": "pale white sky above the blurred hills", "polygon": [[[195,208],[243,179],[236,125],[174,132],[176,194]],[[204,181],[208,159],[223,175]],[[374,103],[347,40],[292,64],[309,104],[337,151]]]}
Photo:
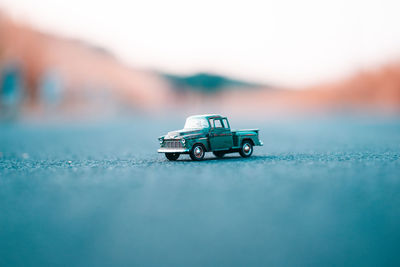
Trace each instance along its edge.
{"label": "pale white sky above the blurred hills", "polygon": [[1,0],[125,62],[301,87],[400,58],[400,1]]}

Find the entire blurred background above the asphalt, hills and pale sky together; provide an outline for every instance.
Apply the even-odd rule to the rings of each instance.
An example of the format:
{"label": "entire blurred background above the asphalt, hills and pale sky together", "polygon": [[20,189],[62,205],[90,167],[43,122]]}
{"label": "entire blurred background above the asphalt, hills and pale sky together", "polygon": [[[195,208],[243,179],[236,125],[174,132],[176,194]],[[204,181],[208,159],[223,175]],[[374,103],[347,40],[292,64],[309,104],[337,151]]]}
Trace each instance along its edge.
{"label": "entire blurred background above the asphalt, hills and pale sky together", "polygon": [[2,119],[400,111],[397,1],[0,8]]}

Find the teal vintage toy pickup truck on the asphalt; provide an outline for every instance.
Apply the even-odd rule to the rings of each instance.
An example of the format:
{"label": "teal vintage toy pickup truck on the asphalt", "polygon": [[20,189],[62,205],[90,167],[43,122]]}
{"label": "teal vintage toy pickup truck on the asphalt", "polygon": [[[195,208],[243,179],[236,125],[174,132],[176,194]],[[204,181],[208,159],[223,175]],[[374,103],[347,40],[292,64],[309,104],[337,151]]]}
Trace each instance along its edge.
{"label": "teal vintage toy pickup truck on the asphalt", "polygon": [[177,160],[180,154],[202,160],[206,152],[213,152],[218,158],[239,152],[248,158],[254,146],[263,145],[258,132],[258,129],[231,130],[228,119],[217,114],[190,116],[182,130],[158,138],[161,146],[158,153],[165,153],[169,160]]}

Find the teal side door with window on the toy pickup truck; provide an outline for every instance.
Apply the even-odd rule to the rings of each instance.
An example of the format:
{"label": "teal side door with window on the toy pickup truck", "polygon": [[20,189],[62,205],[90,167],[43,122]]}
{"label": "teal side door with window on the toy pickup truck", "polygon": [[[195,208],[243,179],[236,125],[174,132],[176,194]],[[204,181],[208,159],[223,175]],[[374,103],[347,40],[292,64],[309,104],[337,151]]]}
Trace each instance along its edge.
{"label": "teal side door with window on the toy pickup truck", "polygon": [[226,119],[210,119],[211,150],[227,150],[232,148],[232,132]]}

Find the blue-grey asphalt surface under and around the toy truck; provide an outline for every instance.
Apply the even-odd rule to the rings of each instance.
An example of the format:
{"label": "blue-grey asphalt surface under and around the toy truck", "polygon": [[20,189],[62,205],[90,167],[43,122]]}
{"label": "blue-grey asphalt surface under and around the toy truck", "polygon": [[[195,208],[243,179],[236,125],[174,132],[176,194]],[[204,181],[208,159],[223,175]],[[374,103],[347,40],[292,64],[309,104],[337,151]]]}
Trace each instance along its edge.
{"label": "blue-grey asphalt surface under and around the toy truck", "polygon": [[251,158],[169,162],[183,123],[0,124],[0,266],[400,265],[400,120],[233,120]]}

